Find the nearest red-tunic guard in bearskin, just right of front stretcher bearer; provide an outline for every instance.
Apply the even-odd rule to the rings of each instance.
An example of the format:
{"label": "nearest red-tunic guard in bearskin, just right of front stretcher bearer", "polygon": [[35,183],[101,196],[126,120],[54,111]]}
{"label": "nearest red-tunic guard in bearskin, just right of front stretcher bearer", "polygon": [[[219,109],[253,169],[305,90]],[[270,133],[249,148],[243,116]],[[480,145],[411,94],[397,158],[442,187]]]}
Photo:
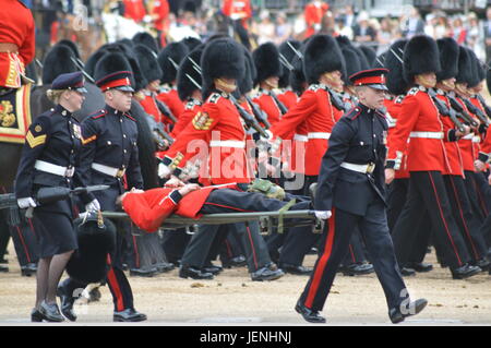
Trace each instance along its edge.
{"label": "nearest red-tunic guard in bearskin, just right of front stretcher bearer", "polygon": [[447,164],[444,130],[429,95],[429,88],[436,83],[435,72],[441,69],[436,43],[424,35],[412,37],[404,50],[403,69],[405,80],[414,87],[404,98],[397,124],[390,134],[385,177],[386,183],[394,180],[406,149],[410,177],[406,205],[393,230],[394,247],[399,264],[405,264],[409,256],[405,245],[414,244],[415,230],[428,211],[453,277],[467,278],[480,268],[468,264],[470,257],[452,214],[442,177]]}

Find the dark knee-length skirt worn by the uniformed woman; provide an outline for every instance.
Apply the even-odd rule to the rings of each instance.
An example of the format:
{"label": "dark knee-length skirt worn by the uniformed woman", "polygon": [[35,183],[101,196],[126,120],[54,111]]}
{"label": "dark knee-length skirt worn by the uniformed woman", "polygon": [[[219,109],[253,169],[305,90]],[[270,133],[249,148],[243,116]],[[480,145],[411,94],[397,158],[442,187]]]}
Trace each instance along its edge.
{"label": "dark knee-length skirt worn by the uniformed woman", "polygon": [[34,209],[34,228],[39,238],[39,257],[46,259],[79,249],[70,200]]}

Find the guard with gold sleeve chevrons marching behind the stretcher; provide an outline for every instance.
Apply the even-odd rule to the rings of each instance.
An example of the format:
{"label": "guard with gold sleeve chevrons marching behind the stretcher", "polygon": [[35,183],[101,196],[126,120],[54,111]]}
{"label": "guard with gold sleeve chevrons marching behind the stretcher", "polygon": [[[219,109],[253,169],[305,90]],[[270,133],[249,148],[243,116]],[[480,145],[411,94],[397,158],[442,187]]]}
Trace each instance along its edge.
{"label": "guard with gold sleeve chevrons marching behind the stretcher", "polygon": [[[243,48],[229,38],[211,41],[204,49],[200,62],[202,69],[202,93],[205,103],[191,123],[180,133],[169,152],[177,151],[175,158],[165,157],[159,167],[159,176],[180,176],[185,172],[187,163],[191,163],[195,146],[207,153],[208,178],[212,184],[236,182],[247,191],[253,179],[249,156],[246,152],[246,129],[230,94],[237,87],[237,81],[244,70]],[[191,154],[191,156],[190,156]],[[189,167],[188,167],[189,168]],[[218,229],[225,228],[225,231]],[[235,228],[240,236],[248,255],[248,265],[252,280],[274,280],[284,273],[271,262],[267,247],[259,226],[207,225],[200,226],[200,232],[191,239],[181,261],[179,275],[183,278],[212,278],[202,273],[212,242],[218,232]]]}

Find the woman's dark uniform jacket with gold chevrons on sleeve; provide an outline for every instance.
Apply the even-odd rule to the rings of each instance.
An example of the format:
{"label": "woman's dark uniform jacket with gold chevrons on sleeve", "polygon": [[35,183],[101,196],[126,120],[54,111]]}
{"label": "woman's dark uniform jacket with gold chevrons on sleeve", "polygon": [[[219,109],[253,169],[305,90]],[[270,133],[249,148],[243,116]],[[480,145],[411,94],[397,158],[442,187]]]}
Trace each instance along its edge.
{"label": "woman's dark uniform jacket with gold chevrons on sleeve", "polygon": [[[82,132],[72,113],[58,105],[35,118],[31,124],[22,152],[15,179],[17,199],[32,197],[38,187],[85,187],[87,181],[81,176],[79,164],[82,151]],[[35,168],[36,161],[75,168],[73,177],[62,177]],[[82,195],[84,203],[94,199]]]}

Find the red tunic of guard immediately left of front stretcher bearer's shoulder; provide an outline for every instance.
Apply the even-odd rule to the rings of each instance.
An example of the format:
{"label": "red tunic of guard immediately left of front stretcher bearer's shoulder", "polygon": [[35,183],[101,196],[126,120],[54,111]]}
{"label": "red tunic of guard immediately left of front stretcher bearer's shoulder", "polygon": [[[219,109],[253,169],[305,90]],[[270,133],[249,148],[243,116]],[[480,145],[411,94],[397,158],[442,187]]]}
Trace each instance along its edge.
{"label": "red tunic of guard immediately left of front stretcher bearer's shoulder", "polygon": [[343,111],[331,103],[327,86],[313,84],[307,89],[298,104],[288,110],[282,121],[271,128],[274,137],[287,139],[303,121],[308,131],[306,146],[306,175],[318,176],[321,159],[327,149],[327,139]]}

